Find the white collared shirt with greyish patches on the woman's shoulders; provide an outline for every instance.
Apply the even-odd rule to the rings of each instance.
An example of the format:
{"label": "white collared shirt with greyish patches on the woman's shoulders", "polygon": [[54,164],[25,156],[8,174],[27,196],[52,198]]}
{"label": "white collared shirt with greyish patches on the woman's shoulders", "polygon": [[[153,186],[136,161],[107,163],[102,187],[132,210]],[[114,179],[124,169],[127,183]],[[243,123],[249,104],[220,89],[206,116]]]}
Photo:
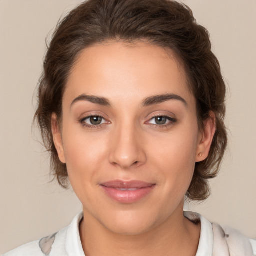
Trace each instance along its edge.
{"label": "white collared shirt with greyish patches on the woman's shoulders", "polygon": [[[17,247],[3,256],[85,256],[79,235],[82,212],[71,224],[55,234]],[[256,255],[256,240],[248,239],[237,230],[222,228],[198,213],[184,211],[191,221],[200,220],[201,231],[195,256],[252,256]]]}

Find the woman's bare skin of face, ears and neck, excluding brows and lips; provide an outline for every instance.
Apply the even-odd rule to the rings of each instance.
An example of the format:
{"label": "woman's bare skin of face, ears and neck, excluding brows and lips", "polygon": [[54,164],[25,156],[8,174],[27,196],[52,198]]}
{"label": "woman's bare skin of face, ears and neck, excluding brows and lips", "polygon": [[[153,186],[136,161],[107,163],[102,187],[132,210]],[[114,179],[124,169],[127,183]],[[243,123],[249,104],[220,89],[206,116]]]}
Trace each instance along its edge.
{"label": "woman's bare skin of face, ears and neck, excluding brows and lips", "polygon": [[[167,93],[186,103],[142,104]],[[84,94],[104,97],[110,106],[77,99]],[[101,123],[92,124],[91,115],[102,116]],[[196,254],[200,224],[183,216],[183,203],[195,162],[209,152],[210,115],[199,129],[195,98],[171,50],[112,41],[80,53],[63,95],[61,128],[52,114],[52,131],[83,205],[79,231],[86,256]],[[155,116],[169,119],[159,124]],[[136,202],[120,203],[100,186],[116,179],[155,186]]]}

